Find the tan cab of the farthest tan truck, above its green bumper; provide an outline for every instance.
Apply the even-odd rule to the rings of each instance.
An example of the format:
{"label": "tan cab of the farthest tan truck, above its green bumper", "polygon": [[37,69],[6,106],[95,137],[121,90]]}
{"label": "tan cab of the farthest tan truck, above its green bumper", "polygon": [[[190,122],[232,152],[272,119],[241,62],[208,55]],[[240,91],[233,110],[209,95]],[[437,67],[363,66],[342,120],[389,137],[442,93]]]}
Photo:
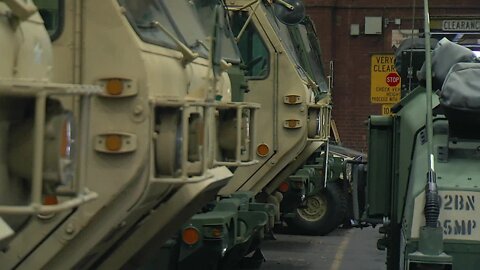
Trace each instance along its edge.
{"label": "tan cab of the farthest tan truck, above its green bumper", "polygon": [[[310,139],[324,132],[321,105],[295,53],[287,25],[276,17],[276,8],[264,1],[228,1],[232,28],[247,65],[246,100],[262,105],[259,125],[266,131],[257,139],[259,163],[239,168],[221,194],[237,190],[260,192]],[[279,7],[277,7],[279,6]],[[297,12],[297,11],[296,11]],[[297,23],[300,20],[297,21]],[[253,173],[254,172],[254,173]]]}

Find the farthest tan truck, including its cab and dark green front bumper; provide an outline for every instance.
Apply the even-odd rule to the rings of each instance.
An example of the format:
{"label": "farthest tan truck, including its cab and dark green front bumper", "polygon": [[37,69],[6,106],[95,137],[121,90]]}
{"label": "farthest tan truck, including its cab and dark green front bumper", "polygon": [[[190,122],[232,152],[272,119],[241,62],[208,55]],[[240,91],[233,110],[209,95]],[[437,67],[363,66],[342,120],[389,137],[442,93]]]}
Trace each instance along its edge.
{"label": "farthest tan truck, including its cab and dark green front bumper", "polygon": [[[225,1],[246,69],[245,100],[261,104],[255,145],[259,162],[237,168],[220,199],[184,225],[170,243],[167,256],[174,262],[168,269],[234,269],[240,261],[261,262],[259,243],[280,217],[278,184],[328,139],[328,89],[320,93],[305,71],[287,28],[302,20],[304,7],[298,1],[273,2]],[[275,206],[273,213],[265,203]],[[189,241],[190,232],[200,237]]]}

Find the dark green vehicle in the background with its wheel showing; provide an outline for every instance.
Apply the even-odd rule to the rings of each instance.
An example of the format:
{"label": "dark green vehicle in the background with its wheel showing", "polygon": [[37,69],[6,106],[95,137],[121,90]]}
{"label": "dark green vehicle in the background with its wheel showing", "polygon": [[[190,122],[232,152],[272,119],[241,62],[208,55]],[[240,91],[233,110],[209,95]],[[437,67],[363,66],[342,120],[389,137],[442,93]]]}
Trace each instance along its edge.
{"label": "dark green vehicle in the background with its wheel showing", "polygon": [[[365,162],[366,155],[338,145],[319,148],[284,182],[278,190],[283,194],[282,220],[289,232],[326,235],[340,225],[354,226],[351,162]],[[324,170],[324,168],[327,168]]]}

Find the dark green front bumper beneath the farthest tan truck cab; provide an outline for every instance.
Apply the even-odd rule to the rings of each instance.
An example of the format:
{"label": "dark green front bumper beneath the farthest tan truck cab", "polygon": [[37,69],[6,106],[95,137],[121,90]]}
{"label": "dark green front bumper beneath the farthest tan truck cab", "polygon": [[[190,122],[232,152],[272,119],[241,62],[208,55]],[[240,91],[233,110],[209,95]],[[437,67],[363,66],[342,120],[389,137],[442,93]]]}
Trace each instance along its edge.
{"label": "dark green front bumper beneath the farthest tan truck cab", "polygon": [[[239,250],[239,257],[246,255],[242,253],[246,252],[241,250],[242,245],[263,238],[264,229],[275,214],[273,205],[256,203],[253,195],[253,192],[233,193],[230,198],[217,201],[212,211],[194,215],[183,228],[195,228],[200,239],[194,245],[180,243],[178,269],[206,267],[206,256],[215,262],[235,249]],[[220,229],[221,233],[212,235],[212,228]]]}

